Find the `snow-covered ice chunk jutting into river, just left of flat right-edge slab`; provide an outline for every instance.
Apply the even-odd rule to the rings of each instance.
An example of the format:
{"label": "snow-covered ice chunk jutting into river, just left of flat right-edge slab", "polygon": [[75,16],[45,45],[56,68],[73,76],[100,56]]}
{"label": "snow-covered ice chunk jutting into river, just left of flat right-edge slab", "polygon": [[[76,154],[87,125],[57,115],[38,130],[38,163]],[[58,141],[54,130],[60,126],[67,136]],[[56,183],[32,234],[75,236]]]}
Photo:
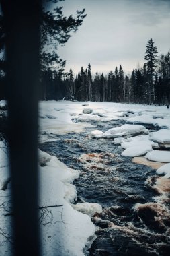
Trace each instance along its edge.
{"label": "snow-covered ice chunk jutting into river, just left of flat right-edge slab", "polygon": [[153,150],[153,148],[151,146],[149,146],[147,143],[141,143],[141,145],[136,145],[136,146],[131,146],[129,148],[126,148],[126,150],[124,150],[122,152],[122,156],[130,156],[130,157],[134,157],[134,156],[143,156],[144,154],[146,154],[148,151]]}

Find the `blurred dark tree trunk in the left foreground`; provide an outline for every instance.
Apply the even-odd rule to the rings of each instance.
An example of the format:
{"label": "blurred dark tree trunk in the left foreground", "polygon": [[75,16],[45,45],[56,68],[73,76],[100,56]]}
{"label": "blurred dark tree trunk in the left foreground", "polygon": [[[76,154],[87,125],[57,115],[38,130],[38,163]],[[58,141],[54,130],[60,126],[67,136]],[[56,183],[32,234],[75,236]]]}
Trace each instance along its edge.
{"label": "blurred dark tree trunk in the left foreground", "polygon": [[38,245],[38,75],[40,1],[1,1],[5,16],[9,160],[15,255]]}

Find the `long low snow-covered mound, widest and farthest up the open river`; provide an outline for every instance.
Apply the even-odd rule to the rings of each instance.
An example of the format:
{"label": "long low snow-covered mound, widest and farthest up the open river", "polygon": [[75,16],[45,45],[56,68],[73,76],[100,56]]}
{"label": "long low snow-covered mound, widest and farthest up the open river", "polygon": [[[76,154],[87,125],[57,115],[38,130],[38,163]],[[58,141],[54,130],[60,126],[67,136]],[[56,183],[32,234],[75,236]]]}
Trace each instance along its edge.
{"label": "long low snow-covered mound, widest and farthest up the open river", "polygon": [[142,125],[122,125],[120,127],[109,129],[105,131],[103,134],[104,137],[107,139],[115,138],[115,137],[122,137],[128,135],[138,135],[140,133],[148,133],[148,129],[146,129]]}

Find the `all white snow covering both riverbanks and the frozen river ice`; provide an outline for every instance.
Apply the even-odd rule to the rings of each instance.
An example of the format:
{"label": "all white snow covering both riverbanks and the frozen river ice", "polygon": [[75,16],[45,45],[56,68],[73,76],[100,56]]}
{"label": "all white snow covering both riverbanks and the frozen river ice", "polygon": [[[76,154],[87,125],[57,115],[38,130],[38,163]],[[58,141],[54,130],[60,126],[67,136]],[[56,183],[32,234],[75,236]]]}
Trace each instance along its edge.
{"label": "all white snow covering both riverbanks and the frozen river ice", "polygon": [[[170,178],[170,110],[165,106],[97,102],[40,102],[40,143],[57,140],[54,135],[79,133],[91,127],[91,121],[114,121],[123,119],[125,125],[101,131],[93,126],[91,138],[112,139],[122,147],[122,156],[142,157],[147,161],[161,162],[157,174]],[[151,131],[148,127],[157,127]],[[97,203],[73,205],[77,192],[72,184],[79,177],[79,170],[67,168],[56,157],[39,152],[40,201],[39,206],[62,205],[42,215],[43,255],[81,256],[95,239],[95,226],[90,216],[101,212]],[[1,203],[10,193],[7,150],[0,142]],[[9,232],[10,218],[1,209],[0,230]],[[42,212],[40,212],[42,214]],[[41,215],[40,215],[41,216]],[[10,246],[0,235],[0,255],[9,255]]]}

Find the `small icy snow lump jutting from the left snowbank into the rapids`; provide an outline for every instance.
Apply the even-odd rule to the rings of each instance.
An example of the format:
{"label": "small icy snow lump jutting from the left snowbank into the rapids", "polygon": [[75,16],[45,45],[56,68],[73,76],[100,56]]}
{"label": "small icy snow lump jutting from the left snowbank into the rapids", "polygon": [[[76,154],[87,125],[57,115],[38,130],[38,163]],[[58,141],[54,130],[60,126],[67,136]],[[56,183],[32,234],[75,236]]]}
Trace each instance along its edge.
{"label": "small icy snow lump jutting from the left snowbank into the rapids", "polygon": [[95,212],[102,212],[102,207],[99,203],[77,203],[72,205],[72,207],[83,214],[88,214],[89,216],[93,216]]}

